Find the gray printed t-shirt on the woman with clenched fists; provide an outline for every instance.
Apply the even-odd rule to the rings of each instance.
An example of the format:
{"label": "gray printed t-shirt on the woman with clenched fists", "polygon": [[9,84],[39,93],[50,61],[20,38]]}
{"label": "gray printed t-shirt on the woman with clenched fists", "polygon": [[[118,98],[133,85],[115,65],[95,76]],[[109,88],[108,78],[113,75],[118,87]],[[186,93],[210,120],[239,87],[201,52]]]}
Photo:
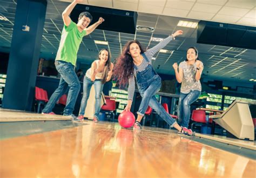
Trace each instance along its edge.
{"label": "gray printed t-shirt on the woman with clenched fists", "polygon": [[[200,63],[203,66],[203,63],[201,61]],[[180,88],[181,93],[186,94],[189,93],[191,90],[202,90],[200,80],[196,80],[196,63],[194,63],[193,65],[187,65],[186,61],[183,61],[179,64],[179,70],[183,70],[183,79]]]}

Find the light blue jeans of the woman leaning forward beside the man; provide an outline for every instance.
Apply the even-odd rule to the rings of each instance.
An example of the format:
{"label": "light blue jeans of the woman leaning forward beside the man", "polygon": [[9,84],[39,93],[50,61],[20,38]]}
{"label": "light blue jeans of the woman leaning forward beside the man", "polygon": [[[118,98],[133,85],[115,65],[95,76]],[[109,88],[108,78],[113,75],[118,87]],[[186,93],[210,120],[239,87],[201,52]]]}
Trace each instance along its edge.
{"label": "light blue jeans of the woman leaning forward beside the man", "polygon": [[101,97],[102,97],[101,93],[102,93],[104,84],[102,84],[102,80],[91,81],[91,79],[87,78],[86,76],[84,77],[83,98],[81,101],[79,115],[84,115],[85,108],[87,105],[87,100],[89,98],[92,85],[94,85],[94,88],[95,88],[95,114],[94,114],[94,116],[99,118],[99,111],[101,108],[100,101],[101,101]]}

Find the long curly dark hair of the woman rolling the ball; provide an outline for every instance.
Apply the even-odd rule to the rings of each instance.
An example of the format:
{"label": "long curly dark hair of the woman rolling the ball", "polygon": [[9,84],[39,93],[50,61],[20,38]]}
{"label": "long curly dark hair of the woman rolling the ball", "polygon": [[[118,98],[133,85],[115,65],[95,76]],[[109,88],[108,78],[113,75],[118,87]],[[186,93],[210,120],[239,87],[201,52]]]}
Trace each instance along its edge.
{"label": "long curly dark hair of the woman rolling the ball", "polygon": [[142,45],[138,40],[132,40],[125,44],[122,50],[122,54],[117,58],[116,64],[114,65],[113,76],[114,80],[117,81],[119,86],[125,86],[128,83],[131,74],[133,73],[133,59],[130,53],[130,45],[137,43],[140,49],[140,54],[144,53]]}

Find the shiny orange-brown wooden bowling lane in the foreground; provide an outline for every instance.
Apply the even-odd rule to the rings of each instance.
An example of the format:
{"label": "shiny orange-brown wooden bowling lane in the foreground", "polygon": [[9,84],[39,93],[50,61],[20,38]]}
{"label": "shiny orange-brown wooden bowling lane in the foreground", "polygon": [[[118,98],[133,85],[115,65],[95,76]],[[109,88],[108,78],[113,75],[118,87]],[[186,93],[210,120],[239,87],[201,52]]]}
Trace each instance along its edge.
{"label": "shiny orange-brown wooden bowling lane in the foreground", "polygon": [[255,177],[254,160],[170,130],[93,123],[0,141],[0,177]]}

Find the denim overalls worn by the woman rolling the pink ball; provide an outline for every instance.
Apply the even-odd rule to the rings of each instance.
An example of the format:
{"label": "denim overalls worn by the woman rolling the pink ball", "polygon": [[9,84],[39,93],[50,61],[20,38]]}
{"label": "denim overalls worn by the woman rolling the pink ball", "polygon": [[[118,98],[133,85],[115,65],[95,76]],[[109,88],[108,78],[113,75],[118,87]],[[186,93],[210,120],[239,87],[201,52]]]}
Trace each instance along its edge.
{"label": "denim overalls worn by the woman rolling the pink ball", "polygon": [[[146,55],[143,53],[142,56],[149,63],[149,59],[147,59]],[[138,67],[134,65],[134,69],[138,70]],[[163,106],[157,101],[154,96],[161,88],[161,78],[158,76],[156,71],[154,71],[151,64],[149,64],[145,70],[141,72],[135,73],[139,93],[142,96],[142,102],[139,106],[138,115],[144,116],[146,109],[148,106],[152,107],[154,111],[157,112],[158,115],[162,119],[164,119],[167,124],[173,127],[177,122],[171,117],[169,113],[167,113]]]}

